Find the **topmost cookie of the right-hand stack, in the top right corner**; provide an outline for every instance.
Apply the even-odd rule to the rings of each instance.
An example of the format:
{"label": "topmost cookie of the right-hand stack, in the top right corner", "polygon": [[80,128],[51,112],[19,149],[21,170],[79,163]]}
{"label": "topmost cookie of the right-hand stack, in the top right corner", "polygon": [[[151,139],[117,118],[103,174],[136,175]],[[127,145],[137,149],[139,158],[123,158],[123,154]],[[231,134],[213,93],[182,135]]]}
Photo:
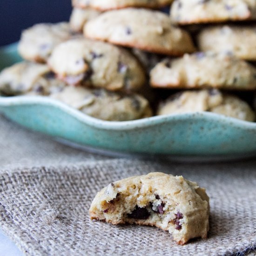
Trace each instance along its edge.
{"label": "topmost cookie of the right-hand stack, in the top right corner", "polygon": [[181,25],[256,18],[255,0],[175,0],[171,20]]}

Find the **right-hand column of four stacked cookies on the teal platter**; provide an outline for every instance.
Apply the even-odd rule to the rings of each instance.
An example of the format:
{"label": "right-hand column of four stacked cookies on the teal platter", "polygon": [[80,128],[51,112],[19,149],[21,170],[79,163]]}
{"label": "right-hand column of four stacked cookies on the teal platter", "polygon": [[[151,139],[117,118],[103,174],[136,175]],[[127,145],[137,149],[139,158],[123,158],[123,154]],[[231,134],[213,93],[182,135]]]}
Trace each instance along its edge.
{"label": "right-hand column of four stacked cookies on the teal platter", "polygon": [[256,68],[247,62],[256,61],[256,1],[175,0],[170,17],[192,29],[199,52],[164,60],[151,71],[153,87],[189,89],[163,102],[158,114],[211,111],[254,121],[255,113],[237,96],[252,101],[256,89]]}

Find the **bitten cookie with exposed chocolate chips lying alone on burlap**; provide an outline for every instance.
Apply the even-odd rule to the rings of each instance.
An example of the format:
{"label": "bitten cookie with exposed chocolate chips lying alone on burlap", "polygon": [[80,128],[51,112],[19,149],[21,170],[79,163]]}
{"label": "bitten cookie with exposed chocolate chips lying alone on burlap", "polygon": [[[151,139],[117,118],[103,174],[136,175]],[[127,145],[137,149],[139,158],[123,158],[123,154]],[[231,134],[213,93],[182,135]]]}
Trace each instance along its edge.
{"label": "bitten cookie with exposed chocolate chips lying alone on burlap", "polygon": [[209,230],[205,189],[182,176],[159,172],[109,184],[97,193],[89,213],[91,219],[114,225],[135,223],[168,230],[179,244],[206,238]]}

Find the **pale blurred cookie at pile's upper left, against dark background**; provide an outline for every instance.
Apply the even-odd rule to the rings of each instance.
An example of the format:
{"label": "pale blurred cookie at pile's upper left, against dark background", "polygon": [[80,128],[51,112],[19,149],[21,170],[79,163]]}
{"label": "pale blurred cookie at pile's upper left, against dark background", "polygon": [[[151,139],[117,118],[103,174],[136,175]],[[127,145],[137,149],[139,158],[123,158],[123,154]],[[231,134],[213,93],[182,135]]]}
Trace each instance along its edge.
{"label": "pale blurred cookie at pile's upper left, against dark background", "polygon": [[54,47],[71,36],[66,22],[36,24],[22,32],[18,51],[25,60],[46,62]]}

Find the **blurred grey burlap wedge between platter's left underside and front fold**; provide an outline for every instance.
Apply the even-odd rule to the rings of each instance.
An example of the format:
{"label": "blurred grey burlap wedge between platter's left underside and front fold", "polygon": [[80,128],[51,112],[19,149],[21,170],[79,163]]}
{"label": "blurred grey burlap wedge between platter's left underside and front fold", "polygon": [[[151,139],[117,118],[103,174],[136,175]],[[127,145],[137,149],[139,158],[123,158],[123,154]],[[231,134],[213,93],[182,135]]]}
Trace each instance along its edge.
{"label": "blurred grey burlap wedge between platter's left underside and front fold", "polygon": [[67,147],[49,136],[22,128],[0,115],[0,168],[58,165],[109,159]]}

